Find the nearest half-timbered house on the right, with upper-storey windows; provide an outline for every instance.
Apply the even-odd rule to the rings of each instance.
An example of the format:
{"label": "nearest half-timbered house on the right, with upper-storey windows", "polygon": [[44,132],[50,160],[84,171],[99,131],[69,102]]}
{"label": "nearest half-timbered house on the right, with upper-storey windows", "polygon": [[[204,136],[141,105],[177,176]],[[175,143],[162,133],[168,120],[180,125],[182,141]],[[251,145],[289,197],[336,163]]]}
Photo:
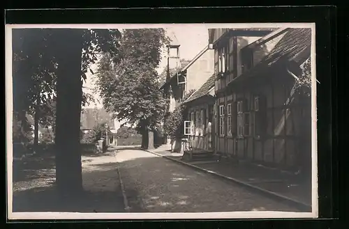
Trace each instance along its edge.
{"label": "nearest half-timbered house on the right, with upper-storey windows", "polygon": [[311,29],[209,29],[209,43],[214,152],[283,168],[309,164],[311,103],[295,85],[310,58]]}

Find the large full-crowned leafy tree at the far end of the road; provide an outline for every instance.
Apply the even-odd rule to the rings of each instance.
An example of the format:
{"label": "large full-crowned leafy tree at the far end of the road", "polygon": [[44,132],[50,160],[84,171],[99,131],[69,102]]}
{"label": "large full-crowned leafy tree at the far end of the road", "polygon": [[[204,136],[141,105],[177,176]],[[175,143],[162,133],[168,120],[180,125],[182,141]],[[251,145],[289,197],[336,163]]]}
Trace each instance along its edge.
{"label": "large full-crowned leafy tree at the far end of the road", "polygon": [[156,68],[169,40],[164,29],[127,29],[121,39],[120,61],[112,65],[106,53],[98,63],[97,85],[103,106],[118,120],[136,124],[142,147],[153,148],[153,133],[162,120],[165,100],[158,90]]}

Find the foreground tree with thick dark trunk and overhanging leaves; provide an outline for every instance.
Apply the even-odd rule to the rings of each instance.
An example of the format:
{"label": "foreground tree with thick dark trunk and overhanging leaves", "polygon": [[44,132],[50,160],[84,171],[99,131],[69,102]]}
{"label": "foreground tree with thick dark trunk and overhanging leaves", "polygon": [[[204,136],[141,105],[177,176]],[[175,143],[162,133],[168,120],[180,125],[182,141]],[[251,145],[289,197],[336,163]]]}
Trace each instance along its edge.
{"label": "foreground tree with thick dark trunk and overhanging leaves", "polygon": [[[55,89],[56,182],[60,194],[82,191],[82,80],[98,52],[108,51],[117,61],[119,37],[118,30],[108,29],[20,29],[13,33],[13,97],[19,119],[24,120],[25,112],[38,104],[38,95],[48,97],[52,86]],[[34,90],[38,81],[47,82],[40,84],[45,93]],[[39,102],[45,100],[40,98]]]}

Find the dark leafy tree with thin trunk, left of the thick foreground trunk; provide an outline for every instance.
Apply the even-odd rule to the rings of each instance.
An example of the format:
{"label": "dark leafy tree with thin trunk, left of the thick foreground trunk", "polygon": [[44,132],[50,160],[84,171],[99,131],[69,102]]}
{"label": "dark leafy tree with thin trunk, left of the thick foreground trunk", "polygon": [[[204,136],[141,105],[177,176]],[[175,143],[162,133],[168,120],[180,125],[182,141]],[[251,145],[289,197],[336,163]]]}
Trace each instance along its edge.
{"label": "dark leafy tree with thin trunk, left of the thick foreground trunk", "polygon": [[21,123],[25,113],[34,116],[34,145],[38,145],[40,106],[54,95],[57,66],[48,52],[48,38],[50,33],[43,29],[13,30],[14,115]]}

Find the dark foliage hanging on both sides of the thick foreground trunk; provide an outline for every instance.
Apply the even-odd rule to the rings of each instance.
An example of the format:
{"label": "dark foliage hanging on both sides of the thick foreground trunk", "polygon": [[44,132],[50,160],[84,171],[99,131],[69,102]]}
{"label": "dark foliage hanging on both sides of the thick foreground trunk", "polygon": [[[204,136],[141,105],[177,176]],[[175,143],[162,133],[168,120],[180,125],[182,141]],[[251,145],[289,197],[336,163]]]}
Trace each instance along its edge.
{"label": "dark foliage hanging on both sides of the thick foreground trunk", "polygon": [[[57,85],[57,58],[59,50],[54,47],[53,29],[13,29],[13,108],[14,115],[24,123],[25,113],[34,116],[38,112],[40,125],[54,126]],[[100,34],[85,31],[86,34]],[[101,35],[99,35],[101,37]],[[87,45],[96,46],[98,35],[90,35]],[[95,39],[94,41],[92,41]],[[93,63],[94,49],[86,47],[82,72],[87,72]],[[93,101],[88,93],[83,93],[82,104]],[[27,131],[22,127],[22,132]]]}

